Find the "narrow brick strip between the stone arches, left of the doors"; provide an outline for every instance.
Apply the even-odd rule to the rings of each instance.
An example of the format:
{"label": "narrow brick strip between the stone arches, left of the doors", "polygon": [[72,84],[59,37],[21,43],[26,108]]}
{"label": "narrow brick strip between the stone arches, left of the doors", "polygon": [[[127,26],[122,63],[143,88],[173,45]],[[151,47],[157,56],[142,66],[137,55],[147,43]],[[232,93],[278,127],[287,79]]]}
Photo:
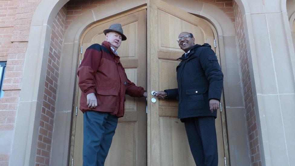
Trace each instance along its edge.
{"label": "narrow brick strip between the stone arches, left of the doors", "polygon": [[42,164],[49,165],[65,21],[66,5],[57,13],[52,25],[37,144],[36,166]]}

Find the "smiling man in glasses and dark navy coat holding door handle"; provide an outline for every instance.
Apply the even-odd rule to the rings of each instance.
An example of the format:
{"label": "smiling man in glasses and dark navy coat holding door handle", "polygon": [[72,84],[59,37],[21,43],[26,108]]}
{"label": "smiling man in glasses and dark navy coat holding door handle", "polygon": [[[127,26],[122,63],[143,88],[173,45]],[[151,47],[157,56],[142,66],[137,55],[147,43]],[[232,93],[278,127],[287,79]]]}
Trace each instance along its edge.
{"label": "smiling man in glasses and dark navy coat holding door handle", "polygon": [[178,118],[184,122],[196,165],[218,165],[215,118],[223,74],[209,44],[195,45],[193,34],[182,32],[178,45],[185,52],[176,68],[178,88],[159,91],[160,99],[178,100]]}

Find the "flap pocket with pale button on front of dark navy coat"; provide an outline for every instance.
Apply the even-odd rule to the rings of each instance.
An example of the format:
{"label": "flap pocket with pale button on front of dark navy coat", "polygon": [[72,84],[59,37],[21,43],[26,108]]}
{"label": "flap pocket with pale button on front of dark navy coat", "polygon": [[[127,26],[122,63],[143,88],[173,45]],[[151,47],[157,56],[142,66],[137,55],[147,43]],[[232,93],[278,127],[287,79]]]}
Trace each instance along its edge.
{"label": "flap pocket with pale button on front of dark navy coat", "polygon": [[186,103],[188,110],[206,109],[204,95],[208,88],[193,88],[186,90]]}

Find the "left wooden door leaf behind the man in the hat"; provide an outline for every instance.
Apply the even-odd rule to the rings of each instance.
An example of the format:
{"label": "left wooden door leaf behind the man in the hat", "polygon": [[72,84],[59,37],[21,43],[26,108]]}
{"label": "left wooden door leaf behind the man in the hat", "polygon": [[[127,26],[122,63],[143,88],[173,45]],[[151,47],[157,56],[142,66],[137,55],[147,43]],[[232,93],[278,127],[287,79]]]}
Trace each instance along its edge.
{"label": "left wooden door leaf behind the man in the hat", "polygon": [[[118,55],[128,79],[146,89],[146,7],[112,17],[89,27],[82,35],[83,46],[80,60],[85,50],[92,44],[105,40],[103,30],[111,24],[120,23],[126,41],[122,41]],[[76,80],[78,82],[78,80]],[[81,166],[83,162],[83,113],[79,110],[81,90],[76,86],[73,115],[72,137],[69,165]],[[110,157],[112,156],[112,157]],[[118,119],[118,126],[105,165],[146,165],[146,99],[126,95],[125,115]]]}

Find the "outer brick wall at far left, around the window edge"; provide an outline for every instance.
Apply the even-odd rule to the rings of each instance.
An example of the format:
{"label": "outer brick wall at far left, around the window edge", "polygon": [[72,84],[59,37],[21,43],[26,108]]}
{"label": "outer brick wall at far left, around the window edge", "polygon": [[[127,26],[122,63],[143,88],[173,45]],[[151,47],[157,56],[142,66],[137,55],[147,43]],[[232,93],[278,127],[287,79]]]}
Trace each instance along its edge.
{"label": "outer brick wall at far left, around the window edge", "polygon": [[[5,93],[0,100],[0,131],[15,129],[28,32],[32,15],[40,1],[0,1],[0,60],[7,60],[3,83]],[[10,154],[0,154],[0,165],[8,165],[9,158]]]}

